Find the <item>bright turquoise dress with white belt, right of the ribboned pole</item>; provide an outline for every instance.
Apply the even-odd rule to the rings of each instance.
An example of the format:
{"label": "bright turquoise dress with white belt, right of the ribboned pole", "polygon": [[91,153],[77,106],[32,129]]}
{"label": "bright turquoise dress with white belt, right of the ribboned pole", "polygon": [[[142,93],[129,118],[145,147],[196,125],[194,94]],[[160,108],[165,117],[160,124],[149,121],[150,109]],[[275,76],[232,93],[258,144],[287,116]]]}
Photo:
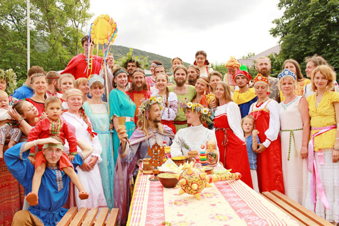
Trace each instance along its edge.
{"label": "bright turquoise dress with white belt, right of the ribboned pole", "polygon": [[[125,93],[118,89],[113,89],[109,93],[109,112],[110,118],[113,121],[113,116],[132,117],[134,119],[134,113],[136,111],[135,103],[126,96]],[[132,135],[136,129],[134,122],[125,122],[128,138]],[[113,129],[113,149],[114,149],[114,163],[118,158],[118,149],[120,140],[115,128]]]}

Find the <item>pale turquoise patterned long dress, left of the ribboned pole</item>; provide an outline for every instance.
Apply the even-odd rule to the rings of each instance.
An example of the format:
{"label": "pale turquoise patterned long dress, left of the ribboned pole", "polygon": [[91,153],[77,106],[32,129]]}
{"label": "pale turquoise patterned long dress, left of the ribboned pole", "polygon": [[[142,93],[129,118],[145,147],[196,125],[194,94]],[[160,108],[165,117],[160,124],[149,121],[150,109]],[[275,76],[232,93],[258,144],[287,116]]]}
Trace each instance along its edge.
{"label": "pale turquoise patterned long dress, left of the ribboned pole", "polygon": [[114,187],[114,158],[113,158],[113,130],[109,130],[109,114],[107,103],[105,104],[88,104],[84,103],[85,113],[91,119],[94,132],[100,140],[102,153],[102,162],[99,163],[102,186],[104,195],[109,209],[113,208],[113,187]]}

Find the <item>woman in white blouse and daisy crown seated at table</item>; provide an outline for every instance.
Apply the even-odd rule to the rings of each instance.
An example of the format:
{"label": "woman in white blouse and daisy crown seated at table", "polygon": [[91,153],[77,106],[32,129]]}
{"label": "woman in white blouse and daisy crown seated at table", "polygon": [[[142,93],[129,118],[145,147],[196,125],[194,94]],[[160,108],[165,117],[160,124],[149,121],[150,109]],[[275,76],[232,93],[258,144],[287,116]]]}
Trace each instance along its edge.
{"label": "woman in white blouse and daisy crown seated at table", "polygon": [[187,123],[191,124],[191,126],[180,129],[175,134],[173,144],[170,146],[170,155],[172,157],[187,156],[190,150],[200,151],[201,145],[206,147],[206,143],[209,140],[213,140],[216,143],[215,131],[202,125],[205,121],[212,123],[210,119],[212,110],[203,107],[199,103],[192,102],[182,102],[179,108],[185,112]]}

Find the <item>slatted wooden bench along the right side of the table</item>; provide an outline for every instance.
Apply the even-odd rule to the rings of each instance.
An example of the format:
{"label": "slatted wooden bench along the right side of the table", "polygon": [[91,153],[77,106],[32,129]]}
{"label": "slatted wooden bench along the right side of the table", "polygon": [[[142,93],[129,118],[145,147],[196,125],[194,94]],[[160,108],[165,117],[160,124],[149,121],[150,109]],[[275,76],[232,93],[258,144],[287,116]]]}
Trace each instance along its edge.
{"label": "slatted wooden bench along the right side of the table", "polygon": [[306,209],[299,203],[278,191],[263,192],[262,195],[280,210],[292,217],[301,226],[333,226],[324,218]]}

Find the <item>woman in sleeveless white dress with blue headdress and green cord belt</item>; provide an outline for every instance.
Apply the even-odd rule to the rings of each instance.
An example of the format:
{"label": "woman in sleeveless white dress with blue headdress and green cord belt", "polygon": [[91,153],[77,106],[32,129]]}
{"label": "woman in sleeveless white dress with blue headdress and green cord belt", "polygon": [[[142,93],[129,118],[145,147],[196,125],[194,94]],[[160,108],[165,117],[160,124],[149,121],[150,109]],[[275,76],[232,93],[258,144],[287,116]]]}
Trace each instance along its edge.
{"label": "woman in sleeveless white dress with blue headdress and green cord belt", "polygon": [[278,76],[285,100],[280,103],[281,163],[285,194],[301,205],[307,191],[308,102],[294,94],[296,76],[285,69]]}

